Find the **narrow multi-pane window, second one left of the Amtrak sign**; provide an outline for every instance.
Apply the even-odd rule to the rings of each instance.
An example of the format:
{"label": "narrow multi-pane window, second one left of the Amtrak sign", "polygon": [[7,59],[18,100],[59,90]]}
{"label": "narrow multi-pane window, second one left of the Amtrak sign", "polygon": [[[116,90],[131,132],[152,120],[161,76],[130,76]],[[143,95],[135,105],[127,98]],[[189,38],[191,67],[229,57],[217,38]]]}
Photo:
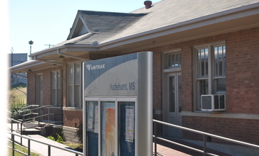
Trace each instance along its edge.
{"label": "narrow multi-pane window, second one left of the Amtrak sign", "polygon": [[60,105],[60,72],[51,72],[51,105]]}

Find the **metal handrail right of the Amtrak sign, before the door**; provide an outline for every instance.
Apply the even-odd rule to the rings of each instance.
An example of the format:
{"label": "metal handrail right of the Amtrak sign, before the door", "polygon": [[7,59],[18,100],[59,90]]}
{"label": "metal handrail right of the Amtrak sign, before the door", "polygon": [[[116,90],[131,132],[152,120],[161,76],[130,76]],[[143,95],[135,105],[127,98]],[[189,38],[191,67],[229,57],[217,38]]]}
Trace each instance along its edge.
{"label": "metal handrail right of the Amtrak sign, before the door", "polygon": [[[234,139],[230,139],[230,138],[225,138],[225,137],[221,137],[219,135],[213,135],[211,133],[205,133],[205,132],[202,132],[200,130],[194,130],[194,129],[191,129],[191,128],[185,128],[185,127],[177,126],[177,125],[174,125],[174,124],[171,124],[171,123],[165,123],[163,121],[157,121],[157,120],[154,120],[154,119],[153,119],[153,122],[154,122],[154,135],[153,135],[153,138],[154,138],[154,153],[155,153],[155,155],[157,155],[157,142],[156,142],[156,139],[164,140],[164,141],[166,141],[168,143],[173,143],[175,145],[180,145],[181,147],[186,147],[186,148],[189,148],[191,150],[195,150],[197,152],[202,152],[203,155],[214,155],[212,153],[206,152],[206,137],[207,136],[212,137],[212,138],[217,138],[217,139],[220,139],[220,140],[226,140],[226,141],[231,142],[231,143],[236,143],[236,144],[239,144],[239,145],[245,145],[245,146],[248,146],[248,147],[254,147],[254,148],[258,148],[259,149],[259,145],[254,145],[254,144],[251,144],[251,143],[245,143],[243,141],[234,140]],[[156,130],[157,129],[157,124],[156,123],[160,123],[160,124],[165,125],[165,126],[179,128],[181,130],[187,130],[187,131],[190,131],[190,132],[193,132],[193,133],[198,133],[198,134],[203,135],[203,150],[199,150],[199,149],[196,149],[196,148],[193,148],[193,147],[182,145],[180,143],[175,143],[175,142],[173,142],[171,140],[167,140],[166,138],[157,137],[157,130]]]}

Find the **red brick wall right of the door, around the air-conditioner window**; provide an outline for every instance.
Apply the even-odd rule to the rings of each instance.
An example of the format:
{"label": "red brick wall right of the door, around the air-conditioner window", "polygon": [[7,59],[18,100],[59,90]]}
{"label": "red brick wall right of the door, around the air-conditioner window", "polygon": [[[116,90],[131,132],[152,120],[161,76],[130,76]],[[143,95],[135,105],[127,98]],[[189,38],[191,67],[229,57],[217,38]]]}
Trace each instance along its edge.
{"label": "red brick wall right of the door, around the air-conditioner window", "polygon": [[[226,40],[226,112],[258,114],[259,28],[192,40],[183,43],[183,45],[187,47],[187,45],[201,45],[220,40]],[[191,52],[191,48],[189,52]],[[183,111],[193,110],[193,99],[191,98],[193,92],[191,91],[193,89],[192,66],[189,63],[191,55],[187,55],[189,52],[183,51],[182,53]],[[259,144],[259,120],[183,116],[182,125],[227,138]],[[183,137],[202,139],[199,135],[187,132],[183,133]]]}

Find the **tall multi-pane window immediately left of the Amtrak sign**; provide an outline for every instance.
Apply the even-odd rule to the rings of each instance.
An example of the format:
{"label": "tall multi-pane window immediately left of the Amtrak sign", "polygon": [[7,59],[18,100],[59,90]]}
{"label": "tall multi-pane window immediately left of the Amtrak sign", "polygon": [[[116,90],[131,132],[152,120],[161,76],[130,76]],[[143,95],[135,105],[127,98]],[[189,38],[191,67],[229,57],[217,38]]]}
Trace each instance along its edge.
{"label": "tall multi-pane window immediately left of the Amtrak sign", "polygon": [[67,66],[68,106],[81,107],[81,63],[74,62]]}

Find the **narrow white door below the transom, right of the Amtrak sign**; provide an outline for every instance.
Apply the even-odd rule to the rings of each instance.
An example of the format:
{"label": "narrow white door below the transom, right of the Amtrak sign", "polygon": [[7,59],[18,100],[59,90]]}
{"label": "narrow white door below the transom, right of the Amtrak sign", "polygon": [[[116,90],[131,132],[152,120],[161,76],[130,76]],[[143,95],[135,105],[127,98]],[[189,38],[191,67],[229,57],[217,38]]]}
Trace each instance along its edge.
{"label": "narrow white door below the transom, right of the Amtrak sign", "polygon": [[[168,122],[181,126],[181,72],[167,74]],[[181,138],[181,130],[169,127],[169,137]]]}

